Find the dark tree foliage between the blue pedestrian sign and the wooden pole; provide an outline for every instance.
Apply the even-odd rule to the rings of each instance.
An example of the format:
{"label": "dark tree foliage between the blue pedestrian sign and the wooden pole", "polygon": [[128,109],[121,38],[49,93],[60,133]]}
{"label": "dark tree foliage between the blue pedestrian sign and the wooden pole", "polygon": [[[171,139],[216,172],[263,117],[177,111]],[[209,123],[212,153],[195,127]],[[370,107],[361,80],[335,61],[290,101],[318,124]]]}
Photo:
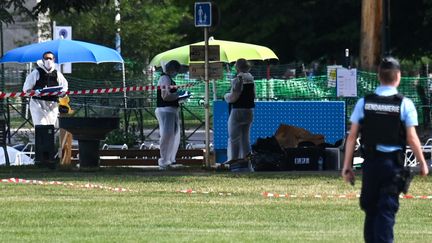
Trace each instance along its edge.
{"label": "dark tree foliage between the blue pedestrian sign and the wooden pole", "polygon": [[282,63],[337,59],[359,49],[360,1],[218,1],[216,39],[265,45]]}

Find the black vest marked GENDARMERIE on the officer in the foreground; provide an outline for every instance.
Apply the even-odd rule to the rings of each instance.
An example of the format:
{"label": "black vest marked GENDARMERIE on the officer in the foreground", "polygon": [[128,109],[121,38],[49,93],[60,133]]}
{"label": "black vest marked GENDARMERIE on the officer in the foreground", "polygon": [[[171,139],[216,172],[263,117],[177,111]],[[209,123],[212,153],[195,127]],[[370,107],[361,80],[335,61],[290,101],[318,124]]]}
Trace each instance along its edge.
{"label": "black vest marked GENDARMERIE on the officer in the foreground", "polygon": [[401,121],[403,96],[367,95],[364,98],[364,118],[361,121],[361,144],[375,149],[377,144],[406,145],[405,124]]}

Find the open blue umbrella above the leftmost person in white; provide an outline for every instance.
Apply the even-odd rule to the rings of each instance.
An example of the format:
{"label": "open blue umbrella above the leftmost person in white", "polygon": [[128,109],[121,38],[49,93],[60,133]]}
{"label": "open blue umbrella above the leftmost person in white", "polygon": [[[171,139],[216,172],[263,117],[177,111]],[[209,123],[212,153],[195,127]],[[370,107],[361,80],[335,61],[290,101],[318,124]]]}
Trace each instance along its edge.
{"label": "open blue umbrella above the leftmost person in white", "polygon": [[56,63],[76,62],[123,62],[120,54],[111,48],[76,40],[52,40],[22,46],[6,52],[0,59],[3,62],[28,63],[42,59],[42,54],[51,51]]}

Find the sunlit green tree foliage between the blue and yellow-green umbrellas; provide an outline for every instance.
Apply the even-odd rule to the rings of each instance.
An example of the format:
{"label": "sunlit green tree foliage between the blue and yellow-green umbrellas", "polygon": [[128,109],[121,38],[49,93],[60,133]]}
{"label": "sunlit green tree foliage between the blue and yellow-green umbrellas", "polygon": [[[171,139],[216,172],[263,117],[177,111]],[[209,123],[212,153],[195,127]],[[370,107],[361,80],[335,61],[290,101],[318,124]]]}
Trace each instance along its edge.
{"label": "sunlit green tree foliage between the blue and yellow-green umbrellas", "polygon": [[[121,54],[129,72],[141,72],[149,59],[160,51],[176,46],[184,35],[178,26],[190,14],[174,0],[121,1]],[[94,7],[88,12],[56,15],[58,25],[70,25],[73,38],[114,48],[117,30],[114,3]]]}

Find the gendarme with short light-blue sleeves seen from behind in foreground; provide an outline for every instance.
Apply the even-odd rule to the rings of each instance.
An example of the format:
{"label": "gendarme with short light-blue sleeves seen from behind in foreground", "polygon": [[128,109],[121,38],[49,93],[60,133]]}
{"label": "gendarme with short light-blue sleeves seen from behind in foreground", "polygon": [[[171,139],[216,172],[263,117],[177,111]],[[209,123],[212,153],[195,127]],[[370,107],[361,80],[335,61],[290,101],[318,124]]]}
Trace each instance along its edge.
{"label": "gendarme with short light-blue sleeves seen from behind in foreground", "polygon": [[399,62],[387,57],[378,70],[380,86],[374,94],[358,100],[351,115],[342,176],[353,181],[352,158],[361,134],[362,189],[360,206],[365,212],[365,242],[393,242],[393,227],[402,192],[403,156],[408,144],[420,161],[421,175],[428,167],[415,130],[417,111],[413,102],[398,93]]}

